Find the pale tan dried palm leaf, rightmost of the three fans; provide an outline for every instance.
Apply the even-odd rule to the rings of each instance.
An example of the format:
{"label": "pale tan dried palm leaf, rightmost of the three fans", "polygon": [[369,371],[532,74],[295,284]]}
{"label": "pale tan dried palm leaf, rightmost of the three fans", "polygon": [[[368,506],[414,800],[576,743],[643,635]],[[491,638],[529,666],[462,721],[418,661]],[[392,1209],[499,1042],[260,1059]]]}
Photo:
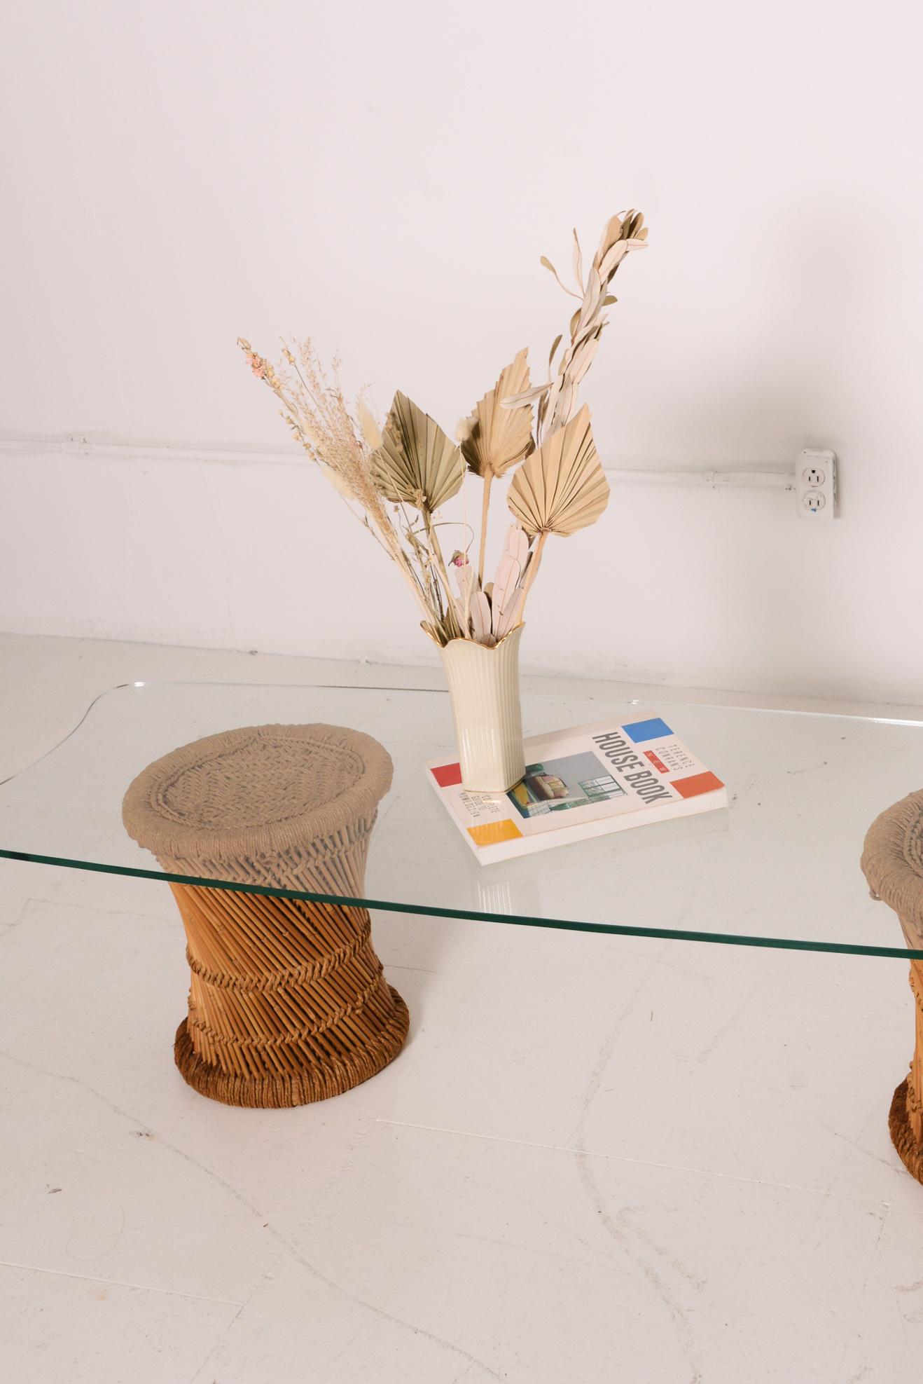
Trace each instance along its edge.
{"label": "pale tan dried palm leaf, rightmost of the three fans", "polygon": [[609,482],[585,404],[522,464],[506,494],[506,504],[526,533],[556,533],[565,538],[595,523],[607,502]]}

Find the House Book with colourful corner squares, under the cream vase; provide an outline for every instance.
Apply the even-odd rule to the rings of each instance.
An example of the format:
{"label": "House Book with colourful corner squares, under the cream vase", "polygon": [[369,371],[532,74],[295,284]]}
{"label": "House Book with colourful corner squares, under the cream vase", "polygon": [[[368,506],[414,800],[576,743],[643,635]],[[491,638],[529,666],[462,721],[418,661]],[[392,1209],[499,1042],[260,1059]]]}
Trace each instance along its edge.
{"label": "House Book with colourful corner squares, under the cream vase", "polygon": [[508,793],[464,789],[455,758],[426,761],[482,865],[728,805],[721,779],[653,713],[533,735],[524,752],[526,774]]}

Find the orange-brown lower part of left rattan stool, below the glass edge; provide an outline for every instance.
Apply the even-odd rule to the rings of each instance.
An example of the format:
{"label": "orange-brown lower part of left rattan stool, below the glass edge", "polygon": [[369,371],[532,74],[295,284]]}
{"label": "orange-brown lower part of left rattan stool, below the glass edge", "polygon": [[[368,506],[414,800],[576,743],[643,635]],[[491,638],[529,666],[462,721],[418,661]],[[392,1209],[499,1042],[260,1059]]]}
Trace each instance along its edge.
{"label": "orange-brown lower part of left rattan stool, below the glass edge", "polygon": [[407,1006],[382,976],[367,909],[170,889],[191,970],[174,1057],[202,1095],[300,1106],[349,1091],[397,1056]]}

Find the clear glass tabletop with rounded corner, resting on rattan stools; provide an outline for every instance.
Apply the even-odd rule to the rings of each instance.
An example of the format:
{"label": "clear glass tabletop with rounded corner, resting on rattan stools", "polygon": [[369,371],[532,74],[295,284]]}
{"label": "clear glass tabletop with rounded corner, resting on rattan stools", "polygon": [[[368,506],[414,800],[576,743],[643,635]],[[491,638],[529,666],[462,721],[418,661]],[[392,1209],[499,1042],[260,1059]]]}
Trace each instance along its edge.
{"label": "clear glass tabletop with rounded corner, resting on rattan stools", "polygon": [[[639,703],[523,695],[526,735],[630,720]],[[454,753],[444,692],[346,686],[131,684],[0,785],[0,857],[165,875],[126,835],[122,797],[147,764],[235,727],[327,721],[365,731],[394,761],[372,833],[365,898],[428,918],[486,919],[750,947],[923,959],[859,871],[866,828],[923,779],[923,724],[670,703],[682,740],[728,786],[729,807],[479,865],[428,783]],[[648,709],[645,703],[645,709]],[[220,879],[187,883],[331,901]],[[422,919],[421,919],[422,922]]]}

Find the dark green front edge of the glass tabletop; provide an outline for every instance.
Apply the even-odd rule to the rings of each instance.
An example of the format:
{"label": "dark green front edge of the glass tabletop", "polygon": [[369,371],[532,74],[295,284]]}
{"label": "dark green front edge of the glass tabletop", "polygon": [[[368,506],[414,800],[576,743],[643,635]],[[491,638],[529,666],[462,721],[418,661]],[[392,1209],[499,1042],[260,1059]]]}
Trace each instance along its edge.
{"label": "dark green front edge of the glass tabletop", "polygon": [[746,937],[739,933],[699,933],[682,927],[638,927],[630,923],[588,923],[572,918],[536,918],[522,913],[491,913],[486,909],[439,908],[432,904],[399,904],[381,898],[351,898],[346,894],[314,894],[299,889],[274,889],[271,884],[241,884],[195,875],[167,875],[166,871],[136,869],[130,865],[102,865],[97,861],[72,861],[58,855],[36,855],[32,851],[0,848],[0,859],[26,861],[32,865],[55,865],[62,869],[84,869],[98,875],[123,875],[130,879],[152,879],[166,884],[191,884],[198,889],[220,889],[234,894],[263,894],[270,898],[296,898],[310,904],[336,904],[342,908],[374,908],[383,913],[411,913],[419,918],[454,918],[473,923],[506,923],[512,927],[551,927],[569,933],[602,933],[614,937],[657,937],[666,941],[714,943],[726,947],[765,947],[778,951],[833,952],[841,956],[894,956],[901,960],[923,960],[923,949],[906,947],[868,947],[861,943],[821,943],[794,937]]}

